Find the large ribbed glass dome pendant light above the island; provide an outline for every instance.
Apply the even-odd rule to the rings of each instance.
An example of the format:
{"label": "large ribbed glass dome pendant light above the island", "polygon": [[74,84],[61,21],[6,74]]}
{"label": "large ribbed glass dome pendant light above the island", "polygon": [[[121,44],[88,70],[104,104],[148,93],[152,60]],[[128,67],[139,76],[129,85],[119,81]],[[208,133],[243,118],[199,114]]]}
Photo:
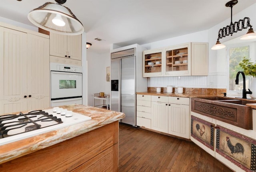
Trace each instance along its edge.
{"label": "large ribbed glass dome pendant light above the island", "polygon": [[71,10],[61,4],[66,0],[46,2],[28,14],[28,20],[39,28],[62,35],[79,35],[84,32],[82,23]]}

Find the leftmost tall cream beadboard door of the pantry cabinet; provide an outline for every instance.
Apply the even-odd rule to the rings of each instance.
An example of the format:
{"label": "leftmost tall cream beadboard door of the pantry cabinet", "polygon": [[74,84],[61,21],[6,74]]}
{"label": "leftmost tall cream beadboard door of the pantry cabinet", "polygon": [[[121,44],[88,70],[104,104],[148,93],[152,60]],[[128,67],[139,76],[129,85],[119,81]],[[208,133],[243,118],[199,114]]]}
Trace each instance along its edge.
{"label": "leftmost tall cream beadboard door of the pantry cabinet", "polygon": [[27,34],[0,27],[0,99],[16,102],[27,95]]}

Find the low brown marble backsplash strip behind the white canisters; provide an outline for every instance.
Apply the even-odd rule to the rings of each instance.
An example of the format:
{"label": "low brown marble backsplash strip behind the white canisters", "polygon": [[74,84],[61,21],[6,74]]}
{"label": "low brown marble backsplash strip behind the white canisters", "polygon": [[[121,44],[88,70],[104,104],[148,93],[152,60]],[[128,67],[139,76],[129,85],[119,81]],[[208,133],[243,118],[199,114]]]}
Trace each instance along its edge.
{"label": "low brown marble backsplash strip behind the white canisters", "polygon": [[[175,92],[173,88],[172,92]],[[156,87],[148,87],[148,92],[156,92]],[[167,87],[161,87],[161,92],[167,92]],[[226,93],[226,89],[214,89],[214,88],[183,88],[185,94],[204,94],[204,95],[218,95],[223,96]]]}

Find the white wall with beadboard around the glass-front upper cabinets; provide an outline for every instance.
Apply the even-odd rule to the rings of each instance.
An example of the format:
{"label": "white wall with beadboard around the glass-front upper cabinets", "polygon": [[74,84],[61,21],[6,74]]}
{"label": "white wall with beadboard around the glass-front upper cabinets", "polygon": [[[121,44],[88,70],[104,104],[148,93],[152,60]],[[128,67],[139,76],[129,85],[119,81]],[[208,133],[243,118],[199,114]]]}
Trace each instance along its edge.
{"label": "white wall with beadboard around the glass-front upper cabinets", "polygon": [[[232,16],[233,22],[237,22],[244,17],[250,18],[250,24],[254,26],[254,31],[256,30],[256,3],[252,6],[246,8],[245,10],[239,12]],[[147,43],[142,46],[147,49],[154,49],[169,45],[176,45],[186,42],[208,42],[209,43],[209,75],[204,76],[186,76],[186,77],[151,77],[148,78],[148,87],[166,87],[167,85],[173,85],[175,87],[190,87],[190,88],[226,88],[226,74],[228,62],[226,57],[218,55],[218,51],[212,50],[211,47],[216,43],[218,38],[218,31],[230,24],[231,19],[217,24],[216,26],[210,28],[209,30],[196,32],[184,36],[178,36],[175,38],[170,38],[166,40],[161,40],[158,42]],[[227,36],[226,38],[220,39],[220,42],[226,42],[238,36],[246,34],[248,29],[244,29],[233,36]]]}

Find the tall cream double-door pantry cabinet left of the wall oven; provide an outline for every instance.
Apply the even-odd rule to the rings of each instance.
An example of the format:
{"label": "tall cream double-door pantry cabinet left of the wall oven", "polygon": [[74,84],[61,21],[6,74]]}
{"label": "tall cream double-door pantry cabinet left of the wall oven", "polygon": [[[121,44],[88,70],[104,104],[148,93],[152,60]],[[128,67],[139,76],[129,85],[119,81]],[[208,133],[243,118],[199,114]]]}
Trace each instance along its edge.
{"label": "tall cream double-door pantry cabinet left of the wall oven", "polygon": [[0,27],[0,114],[50,107],[49,37],[14,28]]}

